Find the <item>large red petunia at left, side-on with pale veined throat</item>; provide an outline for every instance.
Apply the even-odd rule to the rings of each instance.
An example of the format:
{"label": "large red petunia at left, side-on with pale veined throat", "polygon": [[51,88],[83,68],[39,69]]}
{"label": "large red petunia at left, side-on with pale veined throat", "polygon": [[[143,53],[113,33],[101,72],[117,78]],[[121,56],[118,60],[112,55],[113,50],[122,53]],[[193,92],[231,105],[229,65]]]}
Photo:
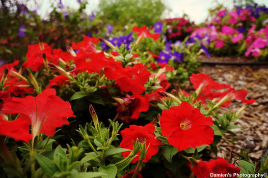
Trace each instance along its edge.
{"label": "large red petunia at left, side-on with pale veined throat", "polygon": [[31,123],[34,137],[39,133],[53,136],[55,128],[69,124],[66,117],[74,116],[70,103],[56,96],[56,91],[52,88],[36,97],[12,98],[12,102],[4,103],[2,111],[20,113],[21,119]]}

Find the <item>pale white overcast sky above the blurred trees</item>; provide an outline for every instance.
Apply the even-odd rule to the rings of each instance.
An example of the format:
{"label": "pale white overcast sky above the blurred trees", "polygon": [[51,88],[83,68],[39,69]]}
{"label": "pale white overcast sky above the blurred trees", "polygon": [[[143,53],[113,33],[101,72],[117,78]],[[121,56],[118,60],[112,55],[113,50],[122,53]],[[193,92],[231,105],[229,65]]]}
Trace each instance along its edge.
{"label": "pale white overcast sky above the blurred trees", "polygon": [[[26,2],[27,6],[31,10],[39,7],[37,13],[41,17],[45,17],[49,14],[49,8],[51,4],[58,4],[59,0],[20,0],[20,2]],[[91,14],[92,11],[96,11],[98,7],[98,0],[88,0],[89,4],[86,9],[87,14]],[[227,8],[232,7],[233,0],[218,0]],[[268,7],[268,0],[255,0],[258,4],[264,4]],[[164,3],[169,7],[171,11],[165,12],[165,18],[181,17],[183,13],[189,15],[191,21],[195,21],[196,24],[203,22],[208,16],[208,9],[216,7],[216,0],[164,0]],[[77,0],[62,0],[62,4],[65,7],[71,7],[78,9],[79,4]]]}

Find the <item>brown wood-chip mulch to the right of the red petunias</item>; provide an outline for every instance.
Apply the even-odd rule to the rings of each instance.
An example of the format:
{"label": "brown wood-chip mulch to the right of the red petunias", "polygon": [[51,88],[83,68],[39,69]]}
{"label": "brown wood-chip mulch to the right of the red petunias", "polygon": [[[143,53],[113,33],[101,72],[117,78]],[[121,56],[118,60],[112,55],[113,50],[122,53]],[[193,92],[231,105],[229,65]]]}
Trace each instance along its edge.
{"label": "brown wood-chip mulch to the right of the red petunias", "polygon": [[[220,60],[226,62],[230,57],[228,60],[224,58]],[[232,60],[237,62],[235,58]],[[268,146],[268,66],[205,65],[200,68],[200,72],[208,74],[219,83],[230,84],[235,90],[246,90],[247,99],[256,100],[242,112],[238,120],[232,123],[243,128],[232,130],[237,134],[235,136],[237,141],[232,143],[222,139],[218,144],[218,156],[233,163],[237,160],[240,149],[249,149],[250,159],[253,162],[259,160]],[[243,103],[237,100],[228,108],[222,108],[222,111],[237,111],[242,106]],[[227,138],[232,137],[227,135]]]}

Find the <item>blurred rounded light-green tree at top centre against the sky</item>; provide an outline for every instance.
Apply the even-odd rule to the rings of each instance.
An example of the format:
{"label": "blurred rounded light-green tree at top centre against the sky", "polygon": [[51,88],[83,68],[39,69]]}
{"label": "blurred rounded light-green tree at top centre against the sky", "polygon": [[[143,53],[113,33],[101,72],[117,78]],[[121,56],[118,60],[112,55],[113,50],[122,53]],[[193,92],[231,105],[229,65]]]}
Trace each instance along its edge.
{"label": "blurred rounded light-green tree at top centre against the sky", "polygon": [[166,6],[162,0],[100,0],[98,14],[113,25],[153,25],[161,19]]}

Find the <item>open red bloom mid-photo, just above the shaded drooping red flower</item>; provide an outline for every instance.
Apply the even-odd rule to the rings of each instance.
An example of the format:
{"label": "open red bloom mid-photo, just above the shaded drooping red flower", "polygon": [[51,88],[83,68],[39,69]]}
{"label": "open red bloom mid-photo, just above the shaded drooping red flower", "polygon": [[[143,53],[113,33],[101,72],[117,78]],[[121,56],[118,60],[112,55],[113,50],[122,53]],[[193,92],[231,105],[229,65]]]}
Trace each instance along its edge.
{"label": "open red bloom mid-photo, just above the shaded drooping red flower", "polygon": [[130,91],[136,95],[142,94],[146,90],[144,84],[148,81],[151,73],[142,64],[136,64],[132,68],[127,66],[125,71],[125,76],[118,78],[116,84],[122,91]]}

